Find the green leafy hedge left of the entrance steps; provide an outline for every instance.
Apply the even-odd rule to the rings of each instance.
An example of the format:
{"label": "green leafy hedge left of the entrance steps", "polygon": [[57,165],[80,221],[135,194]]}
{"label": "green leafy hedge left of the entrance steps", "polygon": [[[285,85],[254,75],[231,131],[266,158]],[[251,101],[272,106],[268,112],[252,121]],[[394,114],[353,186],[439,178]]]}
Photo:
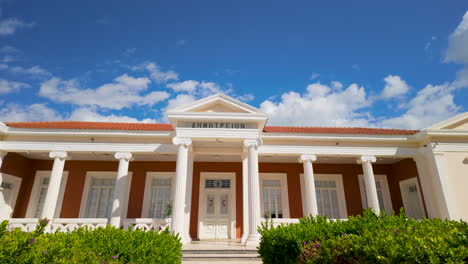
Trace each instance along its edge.
{"label": "green leafy hedge left of the entrance steps", "polygon": [[0,263],[181,263],[180,238],[168,230],[141,231],[106,227],[44,233],[47,220],[34,232],[6,231],[0,225]]}

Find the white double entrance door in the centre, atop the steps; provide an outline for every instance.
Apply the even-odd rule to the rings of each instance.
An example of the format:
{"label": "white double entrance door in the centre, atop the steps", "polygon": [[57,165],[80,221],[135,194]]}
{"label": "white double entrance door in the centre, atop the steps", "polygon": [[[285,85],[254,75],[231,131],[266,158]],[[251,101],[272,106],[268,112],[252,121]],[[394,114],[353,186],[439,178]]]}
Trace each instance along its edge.
{"label": "white double entrance door in the centre, atop the steps", "polygon": [[202,174],[200,239],[235,238],[235,174]]}

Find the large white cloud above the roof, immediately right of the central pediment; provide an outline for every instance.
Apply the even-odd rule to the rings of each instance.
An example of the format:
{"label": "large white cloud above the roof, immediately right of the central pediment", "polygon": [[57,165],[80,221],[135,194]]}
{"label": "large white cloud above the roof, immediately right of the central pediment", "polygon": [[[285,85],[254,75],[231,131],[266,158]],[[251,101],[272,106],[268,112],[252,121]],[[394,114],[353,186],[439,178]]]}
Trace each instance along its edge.
{"label": "large white cloud above the roof, immediately right of the central pediment", "polygon": [[368,126],[360,113],[370,105],[364,87],[351,84],[344,90],[314,83],[305,94],[284,93],[278,102],[265,100],[260,109],[269,114],[270,125]]}

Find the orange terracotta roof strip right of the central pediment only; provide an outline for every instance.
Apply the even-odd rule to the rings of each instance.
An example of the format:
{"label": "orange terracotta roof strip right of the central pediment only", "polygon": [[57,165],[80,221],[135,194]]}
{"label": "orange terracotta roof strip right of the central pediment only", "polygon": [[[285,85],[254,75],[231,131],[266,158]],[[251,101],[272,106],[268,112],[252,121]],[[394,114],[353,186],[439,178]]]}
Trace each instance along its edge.
{"label": "orange terracotta roof strip right of the central pediment only", "polygon": [[266,126],[263,132],[313,133],[313,134],[361,134],[361,135],[413,135],[417,130],[364,128],[364,127],[284,127]]}

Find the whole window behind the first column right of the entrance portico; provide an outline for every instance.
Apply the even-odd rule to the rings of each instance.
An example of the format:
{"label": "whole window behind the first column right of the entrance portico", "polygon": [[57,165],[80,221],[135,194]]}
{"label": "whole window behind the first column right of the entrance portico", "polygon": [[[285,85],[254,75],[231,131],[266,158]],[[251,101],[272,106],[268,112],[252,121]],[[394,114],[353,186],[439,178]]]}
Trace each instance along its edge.
{"label": "whole window behind the first column right of the entrance portico", "polygon": [[[332,219],[348,217],[344,196],[343,179],[340,174],[315,174],[315,196],[318,214]],[[301,174],[301,196],[306,208],[304,175]]]}

